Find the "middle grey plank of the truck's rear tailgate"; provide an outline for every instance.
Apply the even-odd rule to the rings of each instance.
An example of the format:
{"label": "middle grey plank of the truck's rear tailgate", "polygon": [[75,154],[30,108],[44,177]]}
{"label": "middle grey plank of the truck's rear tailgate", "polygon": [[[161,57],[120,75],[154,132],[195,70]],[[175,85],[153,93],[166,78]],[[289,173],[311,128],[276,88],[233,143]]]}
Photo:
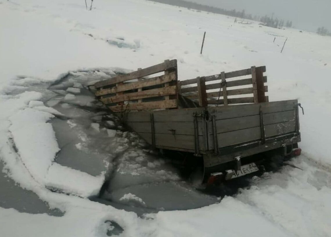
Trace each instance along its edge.
{"label": "middle grey plank of the truck's rear tailgate", "polygon": [[[263,115],[264,125],[294,120],[294,110],[275,112]],[[216,120],[217,133],[226,133],[241,129],[260,127],[260,115]]]}

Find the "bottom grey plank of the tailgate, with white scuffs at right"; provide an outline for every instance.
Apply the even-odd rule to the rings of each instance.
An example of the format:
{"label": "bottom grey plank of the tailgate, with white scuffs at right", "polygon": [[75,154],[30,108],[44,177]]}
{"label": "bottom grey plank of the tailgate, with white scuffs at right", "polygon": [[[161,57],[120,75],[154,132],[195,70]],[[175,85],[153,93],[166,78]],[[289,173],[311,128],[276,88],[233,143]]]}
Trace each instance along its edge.
{"label": "bottom grey plank of the tailgate, with white scuffs at right", "polygon": [[[295,131],[295,121],[287,121],[264,126],[265,136],[272,137]],[[261,130],[259,127],[237,130],[227,133],[217,134],[218,147],[227,147],[244,142],[259,140]]]}

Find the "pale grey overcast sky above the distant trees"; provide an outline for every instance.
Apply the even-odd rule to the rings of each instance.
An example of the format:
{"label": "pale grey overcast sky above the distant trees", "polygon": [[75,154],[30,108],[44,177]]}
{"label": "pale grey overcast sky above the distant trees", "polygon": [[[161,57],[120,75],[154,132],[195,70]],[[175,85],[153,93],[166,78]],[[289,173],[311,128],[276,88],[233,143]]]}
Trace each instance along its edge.
{"label": "pale grey overcast sky above the distant trees", "polygon": [[295,28],[316,31],[324,26],[331,31],[331,0],[188,0],[227,10],[245,9],[246,13],[292,20]]}

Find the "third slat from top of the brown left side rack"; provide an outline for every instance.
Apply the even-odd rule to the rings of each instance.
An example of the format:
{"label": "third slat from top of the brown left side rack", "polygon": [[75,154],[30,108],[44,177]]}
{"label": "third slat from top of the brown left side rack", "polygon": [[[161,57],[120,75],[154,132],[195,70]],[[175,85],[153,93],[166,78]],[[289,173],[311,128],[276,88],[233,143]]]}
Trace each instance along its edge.
{"label": "third slat from top of the brown left side rack", "polygon": [[129,101],[135,99],[143,99],[150,97],[158,97],[164,95],[173,95],[176,94],[176,86],[164,87],[164,88],[156,88],[150,90],[143,90],[118,96],[112,96],[101,99],[104,104],[117,103],[120,101]]}

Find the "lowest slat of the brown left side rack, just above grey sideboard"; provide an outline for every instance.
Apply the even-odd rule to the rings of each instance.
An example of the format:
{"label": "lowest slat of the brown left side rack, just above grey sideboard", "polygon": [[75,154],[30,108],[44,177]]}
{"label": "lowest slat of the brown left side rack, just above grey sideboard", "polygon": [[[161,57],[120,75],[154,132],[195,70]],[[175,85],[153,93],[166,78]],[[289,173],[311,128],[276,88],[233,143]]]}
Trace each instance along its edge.
{"label": "lowest slat of the brown left side rack, just above grey sideboard", "polygon": [[177,108],[177,100],[161,100],[152,102],[142,102],[142,103],[129,103],[124,105],[110,106],[109,108],[113,112],[120,112],[125,110],[145,110],[145,109],[166,109],[166,108]]}

